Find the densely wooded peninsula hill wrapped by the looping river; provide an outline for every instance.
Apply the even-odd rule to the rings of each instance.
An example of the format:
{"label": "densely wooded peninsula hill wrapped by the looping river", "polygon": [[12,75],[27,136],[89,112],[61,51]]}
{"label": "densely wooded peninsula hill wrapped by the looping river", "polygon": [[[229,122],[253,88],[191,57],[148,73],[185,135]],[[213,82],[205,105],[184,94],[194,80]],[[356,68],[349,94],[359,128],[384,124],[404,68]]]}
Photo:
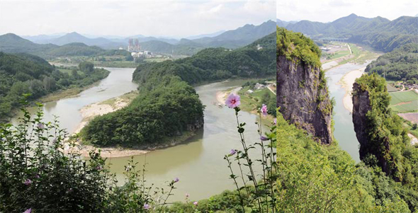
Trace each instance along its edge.
{"label": "densely wooded peninsula hill wrapped by the looping river", "polygon": [[274,74],[275,41],[272,33],[237,50],[209,48],[185,59],[141,64],[132,76],[139,95],[128,107],[91,120],[81,131],[83,141],[141,149],[176,144],[203,127],[204,107],[191,84]]}

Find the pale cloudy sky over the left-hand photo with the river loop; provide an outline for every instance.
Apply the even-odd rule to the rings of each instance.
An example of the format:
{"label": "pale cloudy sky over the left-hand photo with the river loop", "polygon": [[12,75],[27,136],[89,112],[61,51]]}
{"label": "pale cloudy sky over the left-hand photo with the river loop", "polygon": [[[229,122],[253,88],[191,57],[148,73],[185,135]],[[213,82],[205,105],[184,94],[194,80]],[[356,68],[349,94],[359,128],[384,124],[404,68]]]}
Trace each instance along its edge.
{"label": "pale cloudy sky over the left-hand photo with the river loop", "polygon": [[152,35],[183,38],[276,20],[276,1],[0,0],[0,35]]}

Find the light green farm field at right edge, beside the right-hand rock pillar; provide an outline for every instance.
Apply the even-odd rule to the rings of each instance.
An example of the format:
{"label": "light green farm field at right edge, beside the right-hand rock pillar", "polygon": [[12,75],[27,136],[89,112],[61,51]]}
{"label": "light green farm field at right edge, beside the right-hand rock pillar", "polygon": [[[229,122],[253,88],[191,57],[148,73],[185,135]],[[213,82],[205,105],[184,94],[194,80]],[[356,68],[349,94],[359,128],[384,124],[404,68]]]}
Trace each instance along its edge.
{"label": "light green farm field at right edge, beside the right-hand rock pillar", "polygon": [[418,111],[418,94],[414,91],[389,93],[389,95],[391,97],[390,108],[392,108],[392,110],[396,113]]}

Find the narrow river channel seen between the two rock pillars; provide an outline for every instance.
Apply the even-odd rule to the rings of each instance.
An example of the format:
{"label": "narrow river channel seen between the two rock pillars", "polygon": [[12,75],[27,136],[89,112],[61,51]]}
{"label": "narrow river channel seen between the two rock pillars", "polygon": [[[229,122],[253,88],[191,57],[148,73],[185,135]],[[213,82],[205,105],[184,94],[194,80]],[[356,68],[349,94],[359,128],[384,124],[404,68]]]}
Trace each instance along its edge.
{"label": "narrow river channel seen between the two rock pillars", "polygon": [[358,154],[358,140],[356,132],[354,132],[353,118],[349,110],[344,108],[343,98],[346,90],[337,83],[349,71],[366,67],[367,64],[368,62],[366,64],[343,64],[325,72],[328,79],[329,94],[336,102],[333,116],[334,137],[341,149],[347,151],[356,162],[360,161],[360,155]]}

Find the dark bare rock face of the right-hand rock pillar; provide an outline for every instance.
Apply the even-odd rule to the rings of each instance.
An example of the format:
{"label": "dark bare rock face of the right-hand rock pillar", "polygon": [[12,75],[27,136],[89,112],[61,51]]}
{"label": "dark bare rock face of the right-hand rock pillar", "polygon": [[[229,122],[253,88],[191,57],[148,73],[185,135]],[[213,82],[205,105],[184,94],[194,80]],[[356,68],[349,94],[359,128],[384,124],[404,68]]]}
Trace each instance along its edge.
{"label": "dark bare rock face of the right-hand rock pillar", "polygon": [[[390,143],[388,137],[383,137],[379,142],[383,146],[375,144],[370,138],[368,132],[369,121],[366,114],[372,110],[370,93],[367,90],[361,89],[361,86],[355,82],[353,84],[353,123],[356,137],[360,143],[360,159],[363,161],[369,154],[372,154],[378,160],[378,166],[382,171],[388,175],[395,173],[396,168],[390,166],[389,161],[393,161],[393,156],[390,155]],[[395,180],[398,180],[395,178]]]}

